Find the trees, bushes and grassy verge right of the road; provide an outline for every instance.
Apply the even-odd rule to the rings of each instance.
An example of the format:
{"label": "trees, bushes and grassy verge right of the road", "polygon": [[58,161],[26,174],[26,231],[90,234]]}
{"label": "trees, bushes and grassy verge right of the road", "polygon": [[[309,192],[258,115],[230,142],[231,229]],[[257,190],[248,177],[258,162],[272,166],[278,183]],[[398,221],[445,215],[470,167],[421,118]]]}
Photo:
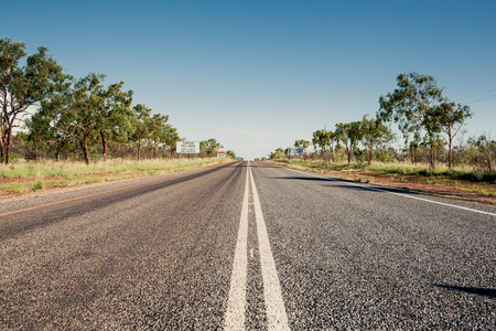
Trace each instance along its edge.
{"label": "trees, bushes and grassy verge right of the road", "polygon": [[468,106],[443,96],[434,77],[400,74],[397,88],[379,97],[375,116],[315,130],[311,140],[298,139],[294,148],[277,148],[262,160],[357,181],[380,179],[494,197],[496,140],[489,134],[465,138],[473,115]]}

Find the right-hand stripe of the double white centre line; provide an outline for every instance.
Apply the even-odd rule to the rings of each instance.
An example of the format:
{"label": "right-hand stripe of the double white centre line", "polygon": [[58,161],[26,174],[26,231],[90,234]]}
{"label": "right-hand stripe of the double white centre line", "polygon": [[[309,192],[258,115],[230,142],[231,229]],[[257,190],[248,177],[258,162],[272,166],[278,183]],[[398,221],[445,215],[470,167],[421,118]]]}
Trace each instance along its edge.
{"label": "right-hand stripe of the double white centre line", "polygon": [[258,245],[260,250],[260,265],[263,279],[263,299],[266,301],[267,329],[268,330],[290,330],[288,325],[288,316],[285,314],[284,301],[276,270],[272,250],[270,249],[269,236],[267,234],[266,222],[258,199],[257,188],[255,186],[251,168],[248,167],[248,173],[251,180],[251,191],[254,193],[255,216],[257,220]]}

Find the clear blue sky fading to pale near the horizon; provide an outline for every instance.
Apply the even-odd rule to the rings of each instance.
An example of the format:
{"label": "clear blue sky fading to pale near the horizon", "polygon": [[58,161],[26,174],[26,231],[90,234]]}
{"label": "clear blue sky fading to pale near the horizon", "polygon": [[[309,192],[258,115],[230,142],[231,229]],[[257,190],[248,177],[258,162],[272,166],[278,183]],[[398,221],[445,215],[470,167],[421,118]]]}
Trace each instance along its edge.
{"label": "clear blue sky fading to pale near the horizon", "polygon": [[266,157],[433,75],[496,136],[496,1],[3,1],[0,38],[125,81],[181,137]]}

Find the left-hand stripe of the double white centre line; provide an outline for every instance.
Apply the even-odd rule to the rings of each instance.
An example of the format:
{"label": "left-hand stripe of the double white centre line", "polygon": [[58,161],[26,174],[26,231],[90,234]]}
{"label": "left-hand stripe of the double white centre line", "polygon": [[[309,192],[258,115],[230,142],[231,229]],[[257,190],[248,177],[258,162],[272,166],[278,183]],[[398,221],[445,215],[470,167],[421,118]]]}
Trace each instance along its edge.
{"label": "left-hand stripe of the double white centre line", "polygon": [[225,330],[245,330],[246,279],[248,266],[248,191],[249,175],[247,172],[245,196],[242,199],[241,206],[241,217],[239,221],[238,241],[236,243],[233,276],[230,278],[229,298],[224,319]]}

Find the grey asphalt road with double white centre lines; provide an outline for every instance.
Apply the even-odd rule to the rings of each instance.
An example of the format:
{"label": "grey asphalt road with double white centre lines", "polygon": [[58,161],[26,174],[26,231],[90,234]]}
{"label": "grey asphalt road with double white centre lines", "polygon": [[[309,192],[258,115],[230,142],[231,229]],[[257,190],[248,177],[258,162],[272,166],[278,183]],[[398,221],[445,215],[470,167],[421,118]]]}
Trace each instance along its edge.
{"label": "grey asphalt road with double white centre lines", "polygon": [[3,330],[494,329],[496,207],[236,162],[0,205]]}

